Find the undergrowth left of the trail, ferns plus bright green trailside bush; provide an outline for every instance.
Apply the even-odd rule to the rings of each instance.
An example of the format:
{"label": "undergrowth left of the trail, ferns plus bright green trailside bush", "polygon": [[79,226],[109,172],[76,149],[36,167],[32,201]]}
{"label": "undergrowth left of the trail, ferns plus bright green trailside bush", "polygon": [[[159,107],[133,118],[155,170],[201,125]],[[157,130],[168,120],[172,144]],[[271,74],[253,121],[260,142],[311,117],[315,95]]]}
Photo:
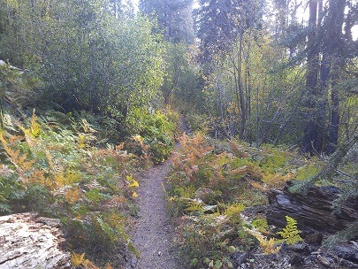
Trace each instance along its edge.
{"label": "undergrowth left of the trail, ferns plus bright green trailside bush", "polygon": [[61,219],[77,264],[92,265],[89,259],[117,267],[126,251],[138,254],[127,235],[137,215],[136,175],[168,157],[179,126],[170,109],[138,113],[131,116],[133,135],[110,143],[110,125],[86,112],[14,117],[3,110],[0,214],[36,211]]}

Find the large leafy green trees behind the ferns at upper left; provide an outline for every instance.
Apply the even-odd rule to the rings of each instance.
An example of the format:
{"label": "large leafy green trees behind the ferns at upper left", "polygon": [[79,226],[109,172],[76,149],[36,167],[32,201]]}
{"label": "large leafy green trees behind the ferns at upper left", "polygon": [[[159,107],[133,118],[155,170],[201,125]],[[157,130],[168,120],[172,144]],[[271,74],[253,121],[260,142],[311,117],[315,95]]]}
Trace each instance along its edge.
{"label": "large leafy green trees behind the ferns at upper left", "polygon": [[[153,34],[156,24],[149,18],[116,17],[110,1],[98,0],[2,0],[0,6],[5,11],[0,58],[37,73],[43,81],[42,104],[55,102],[65,111],[85,109],[122,125],[134,108],[160,106],[165,44]],[[3,73],[4,66],[0,68]],[[16,86],[12,92],[21,90],[23,100],[34,101],[33,91],[19,88],[19,83],[28,84],[11,82]],[[18,96],[9,98],[20,103]]]}

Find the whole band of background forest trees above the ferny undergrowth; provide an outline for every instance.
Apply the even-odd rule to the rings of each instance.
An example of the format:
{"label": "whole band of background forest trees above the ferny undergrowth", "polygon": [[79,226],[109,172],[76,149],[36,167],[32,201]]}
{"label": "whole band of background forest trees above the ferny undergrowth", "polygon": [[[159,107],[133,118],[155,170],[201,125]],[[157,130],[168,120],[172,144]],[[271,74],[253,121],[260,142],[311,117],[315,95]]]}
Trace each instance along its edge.
{"label": "whole band of background forest trees above the ferny undergrowth", "polygon": [[354,135],[354,2],[193,4],[2,1],[0,55],[36,75],[22,105],[91,111],[123,135],[133,111],[166,104],[256,146],[331,154]]}

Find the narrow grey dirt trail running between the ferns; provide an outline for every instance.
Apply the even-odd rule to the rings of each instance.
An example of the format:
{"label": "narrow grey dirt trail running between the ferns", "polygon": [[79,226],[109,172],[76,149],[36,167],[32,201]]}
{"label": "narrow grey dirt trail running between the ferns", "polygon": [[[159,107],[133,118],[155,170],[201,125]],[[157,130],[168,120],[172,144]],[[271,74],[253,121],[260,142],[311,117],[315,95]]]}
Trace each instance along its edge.
{"label": "narrow grey dirt trail running between the ferns", "polygon": [[133,228],[132,240],[139,250],[139,260],[132,260],[129,268],[181,269],[171,246],[171,216],[164,200],[164,177],[169,161],[151,167],[141,177],[138,205],[141,217]]}

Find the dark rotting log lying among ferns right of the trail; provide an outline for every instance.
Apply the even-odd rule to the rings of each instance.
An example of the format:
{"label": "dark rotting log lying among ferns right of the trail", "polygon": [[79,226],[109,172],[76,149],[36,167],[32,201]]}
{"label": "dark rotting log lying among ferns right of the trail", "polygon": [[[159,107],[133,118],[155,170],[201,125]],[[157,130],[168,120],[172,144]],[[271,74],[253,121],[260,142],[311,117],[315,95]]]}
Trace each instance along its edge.
{"label": "dark rotting log lying among ferns right of the trail", "polygon": [[292,194],[288,189],[273,189],[268,194],[267,220],[276,227],[285,227],[288,215],[298,222],[305,233],[334,234],[358,219],[358,198],[348,199],[339,212],[332,205],[339,198],[340,189],[335,187],[311,187],[306,195]]}

